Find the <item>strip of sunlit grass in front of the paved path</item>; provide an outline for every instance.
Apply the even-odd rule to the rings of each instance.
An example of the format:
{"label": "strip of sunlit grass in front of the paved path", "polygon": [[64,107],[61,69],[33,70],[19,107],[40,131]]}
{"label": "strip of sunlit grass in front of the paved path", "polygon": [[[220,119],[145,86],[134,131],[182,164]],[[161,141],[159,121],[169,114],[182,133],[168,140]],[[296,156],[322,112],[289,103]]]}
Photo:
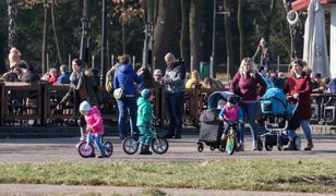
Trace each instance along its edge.
{"label": "strip of sunlit grass in front of the paved path", "polygon": [[2,163],[0,183],[336,193],[336,159]]}

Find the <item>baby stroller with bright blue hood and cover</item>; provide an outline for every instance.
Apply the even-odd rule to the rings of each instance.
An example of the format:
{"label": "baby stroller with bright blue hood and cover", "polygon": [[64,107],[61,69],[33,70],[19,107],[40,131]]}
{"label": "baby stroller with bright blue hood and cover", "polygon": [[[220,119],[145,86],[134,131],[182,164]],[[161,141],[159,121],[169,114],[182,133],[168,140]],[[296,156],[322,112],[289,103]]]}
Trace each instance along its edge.
{"label": "baby stroller with bright blue hood and cover", "polygon": [[[284,145],[289,142],[287,130],[297,130],[300,126],[298,120],[296,105],[287,101],[286,95],[280,88],[268,88],[261,100],[262,118],[267,133],[261,135],[265,137],[265,149],[271,151],[273,146],[277,146],[278,150],[284,149]],[[295,148],[300,150],[301,138],[295,136]]]}

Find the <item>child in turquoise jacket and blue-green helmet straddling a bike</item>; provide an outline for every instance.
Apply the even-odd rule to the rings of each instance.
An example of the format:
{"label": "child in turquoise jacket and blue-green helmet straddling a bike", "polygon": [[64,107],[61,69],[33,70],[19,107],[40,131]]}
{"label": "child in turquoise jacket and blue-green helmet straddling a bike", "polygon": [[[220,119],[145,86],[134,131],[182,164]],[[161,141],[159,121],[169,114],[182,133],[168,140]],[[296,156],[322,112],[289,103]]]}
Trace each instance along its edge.
{"label": "child in turquoise jacket and blue-green helmet straddling a bike", "polygon": [[152,155],[149,151],[149,144],[154,137],[149,130],[149,123],[153,118],[153,108],[151,101],[153,100],[153,93],[151,89],[143,89],[141,97],[137,98],[137,120],[136,126],[142,135],[140,137],[140,155]]}

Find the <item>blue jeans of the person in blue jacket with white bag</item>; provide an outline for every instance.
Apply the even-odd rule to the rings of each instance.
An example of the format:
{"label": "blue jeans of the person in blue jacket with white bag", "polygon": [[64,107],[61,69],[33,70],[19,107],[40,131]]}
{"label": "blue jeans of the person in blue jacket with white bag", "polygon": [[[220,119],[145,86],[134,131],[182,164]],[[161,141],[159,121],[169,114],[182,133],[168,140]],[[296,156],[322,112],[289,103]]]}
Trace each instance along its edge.
{"label": "blue jeans of the person in blue jacket with white bag", "polygon": [[123,137],[130,135],[127,131],[127,118],[130,114],[130,126],[133,133],[139,133],[136,127],[136,98],[135,97],[125,97],[122,100],[118,100],[118,130],[119,137],[122,139]]}

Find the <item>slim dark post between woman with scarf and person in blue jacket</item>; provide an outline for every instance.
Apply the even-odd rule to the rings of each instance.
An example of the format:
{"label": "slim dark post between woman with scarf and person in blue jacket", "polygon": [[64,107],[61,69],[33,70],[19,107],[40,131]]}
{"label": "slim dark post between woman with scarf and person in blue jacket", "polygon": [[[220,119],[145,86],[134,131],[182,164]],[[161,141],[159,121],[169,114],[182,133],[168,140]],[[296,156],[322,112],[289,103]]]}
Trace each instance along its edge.
{"label": "slim dark post between woman with scarf and person in blue jacket", "polygon": [[100,86],[105,85],[106,73],[106,0],[101,0]]}

